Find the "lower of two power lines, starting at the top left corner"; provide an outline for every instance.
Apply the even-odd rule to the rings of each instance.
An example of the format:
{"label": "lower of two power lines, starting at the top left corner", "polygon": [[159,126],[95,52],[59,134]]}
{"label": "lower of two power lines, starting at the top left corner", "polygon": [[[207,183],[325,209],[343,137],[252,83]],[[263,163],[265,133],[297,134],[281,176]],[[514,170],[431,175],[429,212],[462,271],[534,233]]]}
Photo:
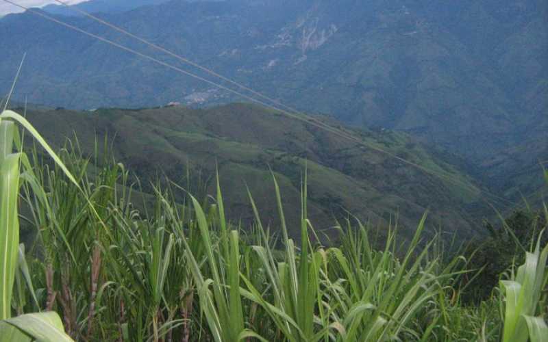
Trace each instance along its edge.
{"label": "lower of two power lines, starting at the top left corner", "polygon": [[[262,105],[262,106],[264,106],[264,107],[268,107],[268,108],[274,109],[275,111],[279,111],[280,113],[282,113],[282,114],[284,114],[284,115],[286,115],[286,116],[289,116],[290,118],[293,118],[293,119],[295,119],[295,120],[299,120],[299,121],[301,121],[301,122],[305,122],[305,123],[311,124],[312,126],[315,126],[315,127],[319,128],[319,129],[323,129],[323,130],[325,130],[325,131],[328,131],[328,132],[330,132],[330,133],[333,133],[334,135],[338,135],[339,137],[343,137],[344,139],[350,140],[350,141],[352,141],[352,142],[356,142],[357,144],[359,144],[359,145],[361,145],[361,146],[364,146],[364,147],[366,147],[366,148],[370,148],[371,150],[375,150],[375,151],[378,152],[378,153],[382,153],[382,154],[384,154],[384,155],[388,155],[388,157],[392,157],[393,159],[397,159],[398,161],[401,161],[402,163],[406,163],[406,164],[408,164],[409,166],[413,166],[414,168],[417,168],[417,169],[419,169],[419,170],[425,172],[426,174],[429,174],[429,175],[431,175],[431,176],[434,176],[434,177],[436,177],[436,178],[438,178],[438,179],[440,179],[440,180],[442,180],[442,181],[447,181],[448,183],[453,183],[453,185],[458,185],[458,186],[460,186],[462,189],[466,189],[466,190],[469,191],[469,192],[475,193],[475,192],[477,191],[477,192],[480,192],[480,193],[482,193],[482,194],[486,194],[487,196],[490,196],[492,199],[493,199],[493,198],[497,199],[498,202],[499,202],[499,204],[500,204],[500,202],[502,201],[502,202],[507,202],[507,203],[509,203],[509,204],[512,205],[512,206],[515,205],[514,202],[511,202],[510,200],[507,200],[506,198],[502,198],[502,197],[497,196],[497,195],[495,195],[495,194],[491,194],[490,192],[488,192],[488,191],[486,191],[486,190],[483,190],[483,189],[479,189],[479,188],[477,188],[477,187],[472,187],[471,185],[468,185],[468,184],[466,184],[466,183],[464,183],[464,182],[462,182],[462,181],[460,181],[460,180],[458,180],[458,179],[453,179],[453,178],[451,178],[451,177],[449,177],[449,176],[445,176],[445,175],[442,175],[442,174],[438,174],[438,173],[434,172],[433,170],[429,170],[428,168],[425,168],[425,167],[423,167],[423,166],[420,166],[420,165],[417,164],[417,163],[414,163],[414,162],[412,162],[412,161],[408,161],[407,159],[404,159],[404,158],[402,158],[402,157],[399,157],[398,155],[395,155],[394,153],[390,153],[390,152],[388,152],[387,150],[384,150],[384,149],[379,148],[379,147],[377,147],[377,146],[374,146],[374,145],[372,145],[372,144],[368,144],[368,143],[366,143],[364,140],[360,140],[360,139],[354,137],[353,135],[349,134],[347,131],[343,131],[342,129],[337,129],[336,127],[332,127],[332,126],[330,126],[329,124],[325,124],[325,123],[322,122],[321,120],[317,120],[316,118],[312,118],[312,117],[310,117],[310,116],[308,116],[308,115],[306,115],[306,114],[300,113],[300,112],[298,112],[298,111],[297,111],[297,114],[294,114],[294,113],[291,113],[290,111],[286,111],[286,110],[284,110],[284,109],[280,109],[280,108],[275,107],[275,106],[273,106],[273,105],[271,105],[271,104],[265,103],[264,101],[260,101],[260,100],[258,100],[258,99],[256,99],[256,98],[253,98],[252,96],[249,96],[249,95],[246,95],[246,94],[242,94],[242,93],[240,93],[240,92],[238,92],[238,91],[236,91],[236,90],[232,90],[231,88],[227,88],[226,86],[223,86],[223,85],[221,85],[221,84],[219,84],[219,83],[216,83],[216,82],[214,82],[214,81],[210,81],[210,80],[208,80],[208,79],[205,79],[205,78],[203,78],[203,77],[200,77],[199,75],[195,75],[194,73],[190,73],[190,72],[188,72],[188,71],[186,71],[186,70],[184,70],[184,69],[182,69],[182,68],[179,68],[179,67],[173,66],[172,64],[169,64],[169,63],[167,63],[167,62],[163,62],[163,61],[161,61],[161,60],[158,60],[158,58],[152,57],[151,55],[147,55],[147,54],[145,54],[145,53],[141,53],[141,52],[139,52],[139,51],[136,51],[136,50],[134,50],[134,49],[131,49],[131,48],[129,48],[129,47],[125,47],[125,46],[122,45],[122,44],[116,43],[116,42],[114,42],[114,41],[112,41],[112,40],[109,40],[108,38],[103,38],[102,36],[99,36],[99,35],[97,35],[97,34],[92,34],[92,33],[90,33],[89,31],[86,31],[86,30],[84,30],[84,29],[81,29],[81,28],[79,28],[79,27],[76,27],[76,26],[74,26],[74,25],[71,25],[71,24],[69,24],[69,23],[66,23],[66,22],[64,22],[64,21],[61,21],[61,20],[59,20],[58,18],[53,18],[52,16],[49,16],[49,15],[43,13],[43,12],[36,11],[36,10],[34,10],[34,9],[31,9],[31,8],[27,8],[27,7],[23,6],[23,5],[19,5],[18,3],[14,3],[14,1],[12,1],[12,0],[3,0],[3,1],[6,2],[6,3],[10,3],[11,5],[14,5],[14,6],[18,7],[18,8],[23,9],[23,10],[27,10],[27,11],[29,11],[29,12],[32,12],[33,14],[36,14],[36,15],[38,15],[38,16],[42,16],[42,18],[46,18],[46,19],[49,20],[49,21],[52,21],[52,22],[54,22],[54,23],[58,23],[59,25],[62,25],[62,26],[64,26],[64,27],[68,27],[69,29],[73,29],[73,30],[75,30],[75,31],[78,31],[78,32],[80,32],[80,33],[82,33],[82,34],[85,34],[86,36],[90,36],[90,37],[92,37],[92,38],[95,38],[95,39],[97,39],[97,40],[100,40],[101,42],[105,42],[105,43],[107,43],[107,44],[111,44],[111,45],[114,46],[114,47],[118,47],[119,49],[122,49],[123,51],[127,51],[127,52],[129,52],[129,53],[133,53],[134,55],[138,55],[139,57],[145,58],[145,59],[147,59],[147,60],[150,60],[150,61],[155,62],[155,63],[157,63],[157,64],[160,64],[160,65],[162,65],[162,66],[165,66],[166,68],[171,68],[172,70],[175,70],[175,71],[177,71],[177,72],[179,72],[179,73],[183,73],[184,75],[188,75],[188,76],[190,76],[190,77],[194,77],[195,79],[199,79],[200,81],[206,82],[206,83],[210,84],[211,86],[215,86],[216,88],[220,88],[220,89],[225,90],[225,91],[227,91],[227,92],[230,92],[230,93],[232,93],[232,94],[236,94],[237,96],[240,96],[240,97],[242,97],[242,98],[245,98],[245,99],[247,99],[247,100],[249,100],[249,101],[251,101],[251,102],[253,102],[253,103],[258,103],[258,104],[260,104],[260,105]],[[58,1],[58,0],[55,0],[55,1]],[[82,12],[84,12],[84,11],[82,11]],[[89,14],[89,16],[95,18],[95,16],[92,16],[91,14]],[[99,18],[97,18],[97,20],[102,21],[102,20],[99,19]],[[103,22],[106,23],[105,21],[103,21]],[[109,26],[110,26],[110,25],[112,25],[112,24],[104,24],[104,25],[109,25]],[[112,27],[115,27],[115,25],[112,25]],[[122,29],[122,31],[125,31],[125,30]],[[126,32],[127,32],[127,31],[126,31]],[[129,33],[128,33],[128,34],[129,34]],[[134,36],[134,35],[132,35],[132,36]],[[134,36],[134,38],[139,39],[139,40],[142,39],[142,38],[137,38],[136,36]],[[154,45],[154,44],[152,44],[152,43],[149,43],[149,44]],[[155,45],[154,45],[154,46],[155,46]],[[162,49],[162,51],[165,50],[165,49],[163,49],[163,48],[161,48],[161,47],[158,47],[158,49]],[[166,51],[167,51],[167,50],[166,50]],[[165,52],[165,51],[163,51],[163,52]],[[171,53],[171,52],[169,52],[169,53],[175,55],[175,53]],[[180,57],[180,56],[179,56],[179,57]],[[180,58],[181,58],[182,60],[186,60],[186,59],[184,59],[184,57],[180,57]],[[194,63],[194,62],[192,62],[192,63]],[[198,64],[196,64],[196,65],[198,65]],[[201,68],[202,70],[209,70],[209,69],[204,68],[204,67],[202,67],[202,66],[200,66],[200,68]],[[210,71],[211,71],[211,70],[210,70]],[[216,73],[214,73],[214,72],[211,71],[211,72],[210,72],[210,75],[218,75],[218,74],[216,74]],[[220,76],[220,75],[219,75],[219,76]],[[219,77],[219,76],[218,76],[218,77]],[[222,76],[220,76],[220,77],[223,78]],[[233,83],[233,84],[236,84],[236,85],[239,84],[239,83],[236,83],[236,82],[234,82],[234,81],[230,81],[230,82]],[[246,88],[246,87],[243,87],[243,88],[244,88],[244,89],[249,89],[249,88]],[[253,90],[251,90],[251,91],[252,91],[253,93],[260,94],[259,92],[255,92],[255,91],[253,91]],[[267,96],[264,96],[264,95],[261,95],[261,97],[268,98]],[[287,106],[284,106],[284,107],[287,107]],[[288,107],[288,108],[290,108],[290,107]],[[293,110],[294,110],[294,109],[293,109]],[[508,205],[504,205],[504,206],[510,207],[510,206],[508,206]]]}

